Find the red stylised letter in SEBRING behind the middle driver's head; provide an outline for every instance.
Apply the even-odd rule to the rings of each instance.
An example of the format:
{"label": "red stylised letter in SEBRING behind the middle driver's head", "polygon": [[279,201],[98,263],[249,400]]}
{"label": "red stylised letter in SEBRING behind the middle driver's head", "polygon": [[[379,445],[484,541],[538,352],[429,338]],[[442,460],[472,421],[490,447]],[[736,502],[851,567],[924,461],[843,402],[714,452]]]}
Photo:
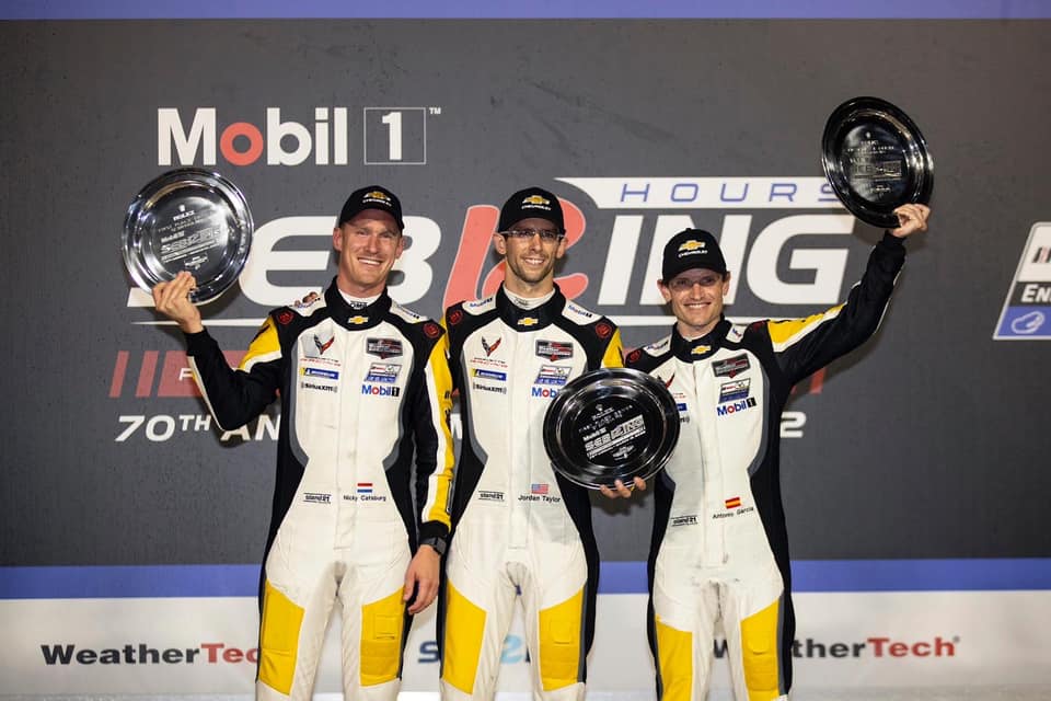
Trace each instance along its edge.
{"label": "red stylised letter in SEBRING behind the middle driver's head", "polygon": [[[575,204],[561,197],[558,202],[562,203],[566,221],[566,248],[569,249],[584,235],[586,221],[584,212]],[[504,281],[504,261],[494,266],[484,280],[482,279],[485,265],[490,260],[493,232],[496,231],[499,218],[500,210],[492,205],[467,207],[467,214],[463,219],[463,232],[460,235],[460,248],[457,250],[457,258],[452,263],[452,273],[441,302],[443,309],[463,300],[488,297]],[[556,277],[555,281],[558,283],[566,299],[574,299],[588,288],[588,276],[584,273],[570,273]]]}

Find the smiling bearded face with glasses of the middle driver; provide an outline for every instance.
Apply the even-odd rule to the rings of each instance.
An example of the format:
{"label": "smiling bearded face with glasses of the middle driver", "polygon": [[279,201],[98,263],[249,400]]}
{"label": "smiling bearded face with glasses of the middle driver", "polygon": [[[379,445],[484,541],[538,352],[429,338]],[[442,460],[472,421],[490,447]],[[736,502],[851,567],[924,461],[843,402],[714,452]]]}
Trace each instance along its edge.
{"label": "smiling bearded face with glasses of the middle driver", "polygon": [[[529,231],[532,235],[509,233]],[[558,235],[545,237],[541,231]],[[508,291],[521,297],[542,297],[554,289],[555,262],[566,253],[566,239],[554,223],[540,218],[522,219],[508,232],[493,234],[493,245],[507,262],[504,285]]]}

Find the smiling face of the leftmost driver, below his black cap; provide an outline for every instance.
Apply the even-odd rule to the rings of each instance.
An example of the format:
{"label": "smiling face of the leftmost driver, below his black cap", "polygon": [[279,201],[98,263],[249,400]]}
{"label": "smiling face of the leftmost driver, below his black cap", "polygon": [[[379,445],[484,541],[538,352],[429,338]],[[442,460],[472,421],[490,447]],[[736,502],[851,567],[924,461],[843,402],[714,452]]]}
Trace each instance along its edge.
{"label": "smiling face of the leftmost driver, below his black cap", "polygon": [[332,231],[332,246],[339,255],[336,285],[354,297],[383,291],[386,277],[405,248],[394,217],[366,209]]}

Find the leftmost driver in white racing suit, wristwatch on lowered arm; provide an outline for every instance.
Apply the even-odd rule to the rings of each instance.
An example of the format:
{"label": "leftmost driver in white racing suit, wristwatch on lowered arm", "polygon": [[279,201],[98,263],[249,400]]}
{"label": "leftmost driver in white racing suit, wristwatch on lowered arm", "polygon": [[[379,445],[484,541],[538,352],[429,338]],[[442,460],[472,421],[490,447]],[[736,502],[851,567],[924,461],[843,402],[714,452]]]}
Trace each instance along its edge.
{"label": "leftmost driver in white racing suit, wristwatch on lowered arm", "polygon": [[235,370],[187,299],[188,273],[153,289],[158,310],[186,335],[220,427],[239,427],[281,399],[257,699],[311,698],[338,598],[346,697],[394,701],[412,614],[437,595],[450,524],[452,388],[441,326],[386,292],[403,228],[393,193],[354,192],[333,230],[332,285],[272,311]]}

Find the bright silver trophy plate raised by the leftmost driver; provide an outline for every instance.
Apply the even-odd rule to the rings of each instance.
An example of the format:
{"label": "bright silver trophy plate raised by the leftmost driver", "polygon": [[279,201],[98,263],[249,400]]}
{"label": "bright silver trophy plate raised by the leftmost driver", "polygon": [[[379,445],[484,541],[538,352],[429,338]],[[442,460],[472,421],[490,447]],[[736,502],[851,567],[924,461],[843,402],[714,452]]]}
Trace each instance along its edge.
{"label": "bright silver trophy plate raised by the leftmost driver", "polygon": [[120,248],[139,287],[150,290],[188,271],[197,280],[190,301],[203,304],[236,281],[253,229],[252,212],[233,183],[218,173],[183,168],[150,181],[136,195]]}

